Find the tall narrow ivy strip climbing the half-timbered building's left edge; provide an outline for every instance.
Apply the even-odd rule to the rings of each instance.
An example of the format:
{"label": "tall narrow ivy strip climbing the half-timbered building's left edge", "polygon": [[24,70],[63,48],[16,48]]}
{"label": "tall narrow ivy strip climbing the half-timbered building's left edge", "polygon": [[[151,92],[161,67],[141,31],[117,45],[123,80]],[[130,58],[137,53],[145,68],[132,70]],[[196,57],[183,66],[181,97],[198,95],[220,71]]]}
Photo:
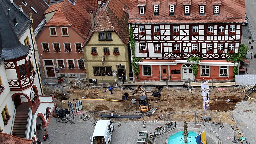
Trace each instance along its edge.
{"label": "tall narrow ivy strip climbing the half-timbered building's left edge", "polygon": [[141,57],[136,57],[135,42],[134,42],[134,38],[133,38],[132,25],[130,25],[129,33],[130,33],[130,47],[131,47],[131,50],[132,50],[133,72],[134,72],[135,76],[138,78],[139,77],[139,73],[140,73],[140,69],[139,69],[139,65],[137,65],[136,62],[141,61],[142,58]]}

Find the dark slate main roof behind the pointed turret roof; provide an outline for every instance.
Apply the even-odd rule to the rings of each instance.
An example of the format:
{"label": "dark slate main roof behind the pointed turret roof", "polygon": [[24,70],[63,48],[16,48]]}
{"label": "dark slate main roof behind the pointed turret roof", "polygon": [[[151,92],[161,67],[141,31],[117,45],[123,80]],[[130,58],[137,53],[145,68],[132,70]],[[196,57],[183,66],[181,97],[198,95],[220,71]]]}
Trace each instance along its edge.
{"label": "dark slate main roof behind the pointed turret roof", "polygon": [[[27,28],[31,24],[30,18],[24,13],[21,12],[17,5],[12,4],[9,0],[0,0],[0,5],[3,8],[3,12],[5,15],[8,15],[8,19],[12,23],[12,27],[18,38],[24,34]],[[14,27],[13,20],[16,19],[17,25]]]}

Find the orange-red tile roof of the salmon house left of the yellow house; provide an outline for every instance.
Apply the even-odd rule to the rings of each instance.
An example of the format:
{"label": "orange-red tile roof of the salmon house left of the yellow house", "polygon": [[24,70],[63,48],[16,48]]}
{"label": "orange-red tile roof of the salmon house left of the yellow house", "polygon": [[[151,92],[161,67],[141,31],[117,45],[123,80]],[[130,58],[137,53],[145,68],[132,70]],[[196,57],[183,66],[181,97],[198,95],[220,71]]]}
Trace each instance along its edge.
{"label": "orange-red tile roof of the salmon house left of the yellow house", "polygon": [[65,0],[46,26],[71,26],[86,38],[91,28],[90,11],[96,13],[96,9],[84,0],[76,0],[75,5]]}

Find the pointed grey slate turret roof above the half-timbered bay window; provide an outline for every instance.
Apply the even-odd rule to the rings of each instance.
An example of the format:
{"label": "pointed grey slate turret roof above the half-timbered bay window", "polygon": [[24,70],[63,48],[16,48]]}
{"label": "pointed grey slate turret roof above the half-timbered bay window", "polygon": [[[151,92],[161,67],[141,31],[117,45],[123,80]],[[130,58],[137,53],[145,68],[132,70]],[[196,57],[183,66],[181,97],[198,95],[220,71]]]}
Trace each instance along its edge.
{"label": "pointed grey slate turret roof above the half-timbered bay window", "polygon": [[6,59],[25,56],[29,50],[29,47],[20,43],[12,24],[0,6],[0,63]]}

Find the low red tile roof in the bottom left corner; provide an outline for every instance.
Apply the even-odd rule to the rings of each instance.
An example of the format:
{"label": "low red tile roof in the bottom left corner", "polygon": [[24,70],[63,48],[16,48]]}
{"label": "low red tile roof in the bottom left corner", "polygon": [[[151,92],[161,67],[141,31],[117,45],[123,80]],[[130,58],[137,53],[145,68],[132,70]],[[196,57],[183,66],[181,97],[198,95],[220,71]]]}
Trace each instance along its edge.
{"label": "low red tile roof in the bottom left corner", "polygon": [[0,143],[1,144],[32,144],[33,140],[24,139],[24,138],[13,136],[7,133],[0,132]]}

